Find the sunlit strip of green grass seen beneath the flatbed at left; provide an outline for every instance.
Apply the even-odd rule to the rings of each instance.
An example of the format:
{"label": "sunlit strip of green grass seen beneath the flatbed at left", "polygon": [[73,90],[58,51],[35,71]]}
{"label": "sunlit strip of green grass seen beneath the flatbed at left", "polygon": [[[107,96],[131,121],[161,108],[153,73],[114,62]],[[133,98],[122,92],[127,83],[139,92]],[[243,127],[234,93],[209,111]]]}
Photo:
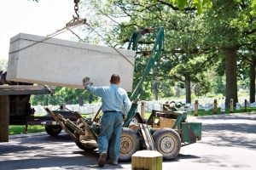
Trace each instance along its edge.
{"label": "sunlit strip of green grass seen beneath the flatbed at left", "polygon": [[[43,125],[28,125],[27,133],[39,133],[44,132]],[[9,126],[9,134],[24,134],[25,133],[25,125],[10,125]]]}

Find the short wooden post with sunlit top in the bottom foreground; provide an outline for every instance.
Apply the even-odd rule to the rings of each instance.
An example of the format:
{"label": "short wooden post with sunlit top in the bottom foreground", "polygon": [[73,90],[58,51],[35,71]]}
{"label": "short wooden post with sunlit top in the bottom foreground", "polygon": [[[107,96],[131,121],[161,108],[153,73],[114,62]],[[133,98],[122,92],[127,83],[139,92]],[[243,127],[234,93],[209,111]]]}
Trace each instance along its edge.
{"label": "short wooden post with sunlit top in the bottom foreground", "polygon": [[155,150],[139,150],[131,156],[132,170],[161,170],[163,156]]}

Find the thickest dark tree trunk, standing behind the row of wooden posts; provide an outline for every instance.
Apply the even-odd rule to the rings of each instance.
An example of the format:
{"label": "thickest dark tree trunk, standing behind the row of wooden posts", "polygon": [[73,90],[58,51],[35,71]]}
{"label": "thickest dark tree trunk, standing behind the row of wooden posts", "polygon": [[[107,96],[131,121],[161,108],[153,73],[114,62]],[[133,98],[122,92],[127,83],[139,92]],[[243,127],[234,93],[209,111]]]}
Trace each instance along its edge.
{"label": "thickest dark tree trunk, standing behind the row of wooden posts", "polygon": [[225,49],[226,54],[226,90],[225,90],[225,105],[230,104],[230,99],[233,99],[234,105],[238,102],[237,99],[237,77],[236,77],[236,49]]}

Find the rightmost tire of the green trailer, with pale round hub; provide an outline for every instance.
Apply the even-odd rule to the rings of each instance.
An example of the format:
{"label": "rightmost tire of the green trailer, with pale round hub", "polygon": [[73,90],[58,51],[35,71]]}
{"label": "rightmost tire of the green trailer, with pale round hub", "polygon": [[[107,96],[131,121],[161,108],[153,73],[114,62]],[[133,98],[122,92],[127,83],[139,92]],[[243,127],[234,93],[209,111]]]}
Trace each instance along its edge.
{"label": "rightmost tire of the green trailer, with pale round hub", "polygon": [[[156,130],[152,137],[156,150],[162,154],[164,160],[172,160],[173,158],[177,157],[181,148],[181,139],[175,130],[172,128],[162,128]],[[172,143],[169,143],[170,146],[167,150],[163,149],[163,144],[166,142],[163,139],[167,139],[170,143]]]}

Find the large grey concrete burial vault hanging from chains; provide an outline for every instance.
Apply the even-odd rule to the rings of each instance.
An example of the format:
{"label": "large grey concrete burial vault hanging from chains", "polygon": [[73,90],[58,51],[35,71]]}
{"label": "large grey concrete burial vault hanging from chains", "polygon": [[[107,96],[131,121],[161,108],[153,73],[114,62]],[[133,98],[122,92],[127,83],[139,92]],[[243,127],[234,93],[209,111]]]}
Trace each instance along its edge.
{"label": "large grey concrete burial vault hanging from chains", "polygon": [[118,48],[124,57],[111,47],[44,39],[24,33],[10,39],[8,80],[84,88],[83,77],[90,77],[94,86],[108,86],[116,73],[121,77],[120,87],[131,92],[134,51]]}

